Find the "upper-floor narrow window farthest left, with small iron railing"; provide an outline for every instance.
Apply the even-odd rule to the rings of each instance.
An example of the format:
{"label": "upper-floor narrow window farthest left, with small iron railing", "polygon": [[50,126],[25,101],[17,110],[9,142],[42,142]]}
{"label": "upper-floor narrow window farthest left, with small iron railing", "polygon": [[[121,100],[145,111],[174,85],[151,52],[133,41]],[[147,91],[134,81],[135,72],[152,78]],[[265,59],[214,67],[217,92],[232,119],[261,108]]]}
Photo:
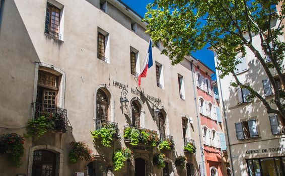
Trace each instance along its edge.
{"label": "upper-floor narrow window farthest left, with small iron railing", "polygon": [[60,9],[50,3],[47,3],[45,16],[45,33],[61,40],[61,34],[59,34],[59,24]]}

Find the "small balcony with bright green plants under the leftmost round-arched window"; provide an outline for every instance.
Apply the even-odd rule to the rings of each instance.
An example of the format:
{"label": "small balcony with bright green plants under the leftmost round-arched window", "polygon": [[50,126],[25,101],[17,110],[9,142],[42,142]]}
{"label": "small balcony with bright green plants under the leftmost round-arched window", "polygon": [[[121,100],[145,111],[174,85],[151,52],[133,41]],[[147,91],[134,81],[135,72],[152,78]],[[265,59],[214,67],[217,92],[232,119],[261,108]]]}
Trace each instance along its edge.
{"label": "small balcony with bright green plants under the leftmost round-arched window", "polygon": [[118,123],[103,119],[94,119],[96,130],[91,131],[94,140],[101,141],[105,147],[111,147],[114,139],[120,139]]}

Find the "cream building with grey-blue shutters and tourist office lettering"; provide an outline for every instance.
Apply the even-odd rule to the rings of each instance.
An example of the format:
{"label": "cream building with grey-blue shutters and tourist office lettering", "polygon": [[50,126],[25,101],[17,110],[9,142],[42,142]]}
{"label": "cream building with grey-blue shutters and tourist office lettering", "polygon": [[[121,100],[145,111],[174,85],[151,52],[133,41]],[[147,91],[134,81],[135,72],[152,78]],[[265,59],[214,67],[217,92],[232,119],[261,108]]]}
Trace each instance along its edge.
{"label": "cream building with grey-blue shutters and tourist office lettering", "polygon": [[[279,23],[277,19],[272,20],[271,28],[277,28]],[[244,35],[248,38],[248,34]],[[284,41],[283,35],[279,36],[279,40]],[[253,46],[263,53],[260,43],[259,36],[253,35]],[[217,66],[215,52],[214,55]],[[265,62],[270,63],[270,59],[263,56]],[[238,52],[237,59],[241,61],[235,70],[239,80],[250,84],[259,95],[270,102],[274,97],[273,89],[254,53],[246,47],[246,55],[243,57],[242,53]],[[284,62],[281,65],[283,68]],[[276,73],[271,71],[276,76]],[[230,82],[235,81],[232,75],[220,79],[220,71],[216,72],[233,175],[284,175],[285,143],[281,133],[284,121],[276,114],[267,114],[259,99],[246,99],[248,90],[232,87]],[[278,82],[277,76],[275,80]],[[281,85],[280,89],[283,89]],[[270,106],[275,108],[272,104]]]}

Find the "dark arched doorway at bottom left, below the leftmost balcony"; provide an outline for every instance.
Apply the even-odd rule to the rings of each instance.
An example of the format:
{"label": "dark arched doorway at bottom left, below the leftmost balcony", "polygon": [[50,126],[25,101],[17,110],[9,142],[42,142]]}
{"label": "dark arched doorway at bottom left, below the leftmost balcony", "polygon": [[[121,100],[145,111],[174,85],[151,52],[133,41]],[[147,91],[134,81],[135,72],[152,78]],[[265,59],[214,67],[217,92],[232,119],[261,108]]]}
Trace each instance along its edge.
{"label": "dark arched doorway at bottom left, below the leftmost balcony", "polygon": [[32,176],[55,176],[56,153],[49,150],[35,150]]}

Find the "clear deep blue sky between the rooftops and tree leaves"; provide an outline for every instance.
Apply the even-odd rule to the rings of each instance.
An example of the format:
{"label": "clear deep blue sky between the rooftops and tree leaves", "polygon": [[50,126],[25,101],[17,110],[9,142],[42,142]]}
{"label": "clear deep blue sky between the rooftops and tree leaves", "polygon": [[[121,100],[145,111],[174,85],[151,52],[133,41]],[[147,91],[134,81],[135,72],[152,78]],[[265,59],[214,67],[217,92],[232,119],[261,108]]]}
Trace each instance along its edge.
{"label": "clear deep blue sky between the rooftops and tree leaves", "polygon": [[[132,10],[134,10],[136,13],[138,13],[141,17],[145,16],[146,13],[146,6],[149,3],[152,3],[153,0],[139,0],[139,1],[132,1],[132,0],[121,0],[123,3],[125,3],[128,7],[130,7]],[[201,60],[204,64],[206,64],[209,68],[211,68],[213,71],[215,70],[215,62],[213,60],[213,53],[207,49],[209,45],[206,45],[201,50],[191,53],[196,59]],[[213,77],[213,79],[216,79],[216,75]]]}

